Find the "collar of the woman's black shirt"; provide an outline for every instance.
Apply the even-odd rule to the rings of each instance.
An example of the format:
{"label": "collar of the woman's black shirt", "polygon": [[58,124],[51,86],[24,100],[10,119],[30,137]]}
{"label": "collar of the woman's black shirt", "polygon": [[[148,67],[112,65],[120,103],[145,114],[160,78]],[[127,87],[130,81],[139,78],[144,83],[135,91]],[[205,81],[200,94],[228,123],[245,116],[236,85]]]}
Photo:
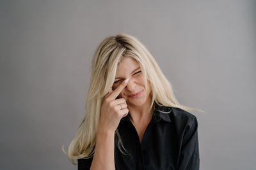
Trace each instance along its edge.
{"label": "collar of the woman's black shirt", "polygon": [[[155,122],[159,122],[160,120],[164,120],[166,122],[172,122],[170,113],[172,112],[172,108],[168,106],[160,106],[157,103],[154,103],[155,109],[153,113],[153,117],[155,118]],[[131,122],[129,119],[129,114],[126,117],[123,117],[121,121]]]}

